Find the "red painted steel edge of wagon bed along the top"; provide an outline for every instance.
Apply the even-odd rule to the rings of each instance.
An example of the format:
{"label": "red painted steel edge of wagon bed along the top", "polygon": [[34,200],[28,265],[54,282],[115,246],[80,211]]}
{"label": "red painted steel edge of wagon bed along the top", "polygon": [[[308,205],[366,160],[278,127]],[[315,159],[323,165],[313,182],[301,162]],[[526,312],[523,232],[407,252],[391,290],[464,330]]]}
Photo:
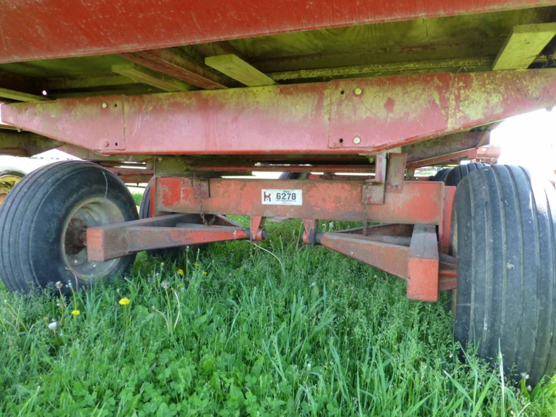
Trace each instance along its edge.
{"label": "red painted steel edge of wagon bed along the top", "polygon": [[2,0],[0,63],[552,4],[551,0]]}

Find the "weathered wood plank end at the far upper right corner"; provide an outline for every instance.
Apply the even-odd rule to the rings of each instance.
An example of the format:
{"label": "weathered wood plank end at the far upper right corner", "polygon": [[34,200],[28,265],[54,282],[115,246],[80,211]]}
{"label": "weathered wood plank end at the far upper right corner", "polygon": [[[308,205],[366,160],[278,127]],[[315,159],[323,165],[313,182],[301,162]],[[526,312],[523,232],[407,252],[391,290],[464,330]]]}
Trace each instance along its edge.
{"label": "weathered wood plank end at the far upper right corner", "polygon": [[555,34],[556,23],[514,26],[494,60],[493,71],[529,67]]}

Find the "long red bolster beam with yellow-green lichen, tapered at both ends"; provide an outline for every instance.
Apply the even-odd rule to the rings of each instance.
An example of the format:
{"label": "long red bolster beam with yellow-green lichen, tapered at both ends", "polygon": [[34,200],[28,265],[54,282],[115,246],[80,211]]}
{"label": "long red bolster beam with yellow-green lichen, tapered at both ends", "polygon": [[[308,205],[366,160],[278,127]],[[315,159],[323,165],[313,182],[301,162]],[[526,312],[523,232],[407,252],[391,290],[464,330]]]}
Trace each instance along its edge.
{"label": "long red bolster beam with yellow-green lichen, tapered at both ends", "polygon": [[105,154],[339,157],[554,105],[556,68],[544,68],[67,98],[1,105],[1,113],[10,125]]}

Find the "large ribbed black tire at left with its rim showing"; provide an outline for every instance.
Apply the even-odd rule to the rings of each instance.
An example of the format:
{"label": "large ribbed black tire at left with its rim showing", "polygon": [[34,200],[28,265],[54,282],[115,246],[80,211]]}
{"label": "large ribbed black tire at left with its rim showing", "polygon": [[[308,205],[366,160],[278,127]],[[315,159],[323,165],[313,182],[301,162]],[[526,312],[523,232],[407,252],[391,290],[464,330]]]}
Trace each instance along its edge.
{"label": "large ribbed black tire at left with its rim showing", "polygon": [[[91,201],[96,207],[91,215],[96,216],[91,220],[95,225],[137,220],[135,201],[126,185],[94,163],[52,163],[29,173],[13,187],[0,206],[0,277],[8,290],[27,292],[60,281],[67,291],[65,285],[70,282],[76,289],[131,267],[135,254],[93,262],[87,259],[86,247],[81,247],[77,255],[68,255],[64,238],[69,219],[78,216],[78,209],[93,212]],[[98,207],[106,206],[115,218],[103,222],[106,216]]]}

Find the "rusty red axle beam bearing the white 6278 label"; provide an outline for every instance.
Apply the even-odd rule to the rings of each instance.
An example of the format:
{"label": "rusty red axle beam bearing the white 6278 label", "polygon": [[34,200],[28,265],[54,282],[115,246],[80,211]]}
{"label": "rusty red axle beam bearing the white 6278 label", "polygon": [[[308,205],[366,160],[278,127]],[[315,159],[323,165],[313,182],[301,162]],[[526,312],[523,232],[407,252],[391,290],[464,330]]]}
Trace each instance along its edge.
{"label": "rusty red axle beam bearing the white 6278 label", "polygon": [[[444,184],[406,181],[386,190],[384,204],[362,202],[361,181],[324,180],[207,180],[210,197],[195,197],[187,178],[157,177],[151,189],[154,212],[231,214],[292,219],[363,221],[367,210],[372,222],[438,225],[443,217]],[[262,190],[300,190],[301,205],[271,205],[262,202]],[[151,195],[151,196],[152,196]]]}

